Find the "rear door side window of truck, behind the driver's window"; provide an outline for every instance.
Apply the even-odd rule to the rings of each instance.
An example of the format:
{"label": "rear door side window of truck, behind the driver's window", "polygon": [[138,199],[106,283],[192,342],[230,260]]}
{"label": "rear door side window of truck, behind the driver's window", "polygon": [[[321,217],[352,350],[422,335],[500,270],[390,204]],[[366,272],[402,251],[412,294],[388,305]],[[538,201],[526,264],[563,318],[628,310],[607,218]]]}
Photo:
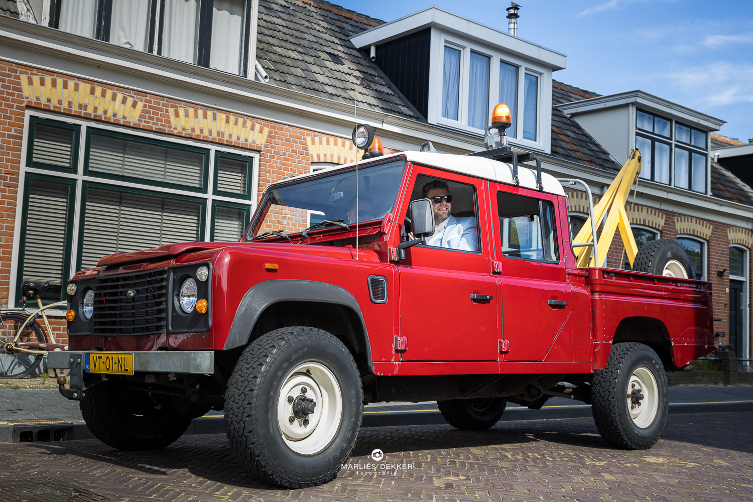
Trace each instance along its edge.
{"label": "rear door side window of truck, behind the driver's window", "polygon": [[548,200],[497,192],[502,254],[523,260],[558,261],[554,205]]}

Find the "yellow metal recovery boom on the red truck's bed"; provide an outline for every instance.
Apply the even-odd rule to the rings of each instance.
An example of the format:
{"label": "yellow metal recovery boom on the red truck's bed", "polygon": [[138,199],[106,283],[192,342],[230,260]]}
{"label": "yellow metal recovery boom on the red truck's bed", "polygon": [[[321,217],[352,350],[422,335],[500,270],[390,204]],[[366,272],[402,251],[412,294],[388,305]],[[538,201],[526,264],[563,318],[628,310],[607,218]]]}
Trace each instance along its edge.
{"label": "yellow metal recovery boom on the red truck's bed", "polygon": [[[641,153],[636,149],[630,152],[630,157],[628,157],[625,165],[617,173],[617,177],[609,185],[599,203],[594,206],[593,212],[595,214],[589,216],[586,224],[584,224],[581,231],[578,232],[578,235],[572,241],[574,245],[581,245],[581,247],[574,248],[575,256],[578,257],[578,267],[604,266],[604,262],[607,259],[607,251],[609,251],[609,246],[612,239],[614,239],[614,231],[618,228],[620,229],[622,242],[625,245],[627,259],[630,260],[630,266],[633,266],[636,254],[638,254],[638,246],[636,245],[636,238],[633,237],[633,230],[630,228],[630,218],[627,215],[627,211],[625,211],[625,203],[628,196],[630,196],[630,188],[633,187],[633,183],[637,182],[640,172]],[[601,263],[595,265],[591,256],[591,247],[584,247],[582,245],[593,242],[591,217],[593,216],[596,228],[598,229],[599,223],[604,218],[607,210],[609,210],[607,221],[596,244],[599,247],[598,256]]]}

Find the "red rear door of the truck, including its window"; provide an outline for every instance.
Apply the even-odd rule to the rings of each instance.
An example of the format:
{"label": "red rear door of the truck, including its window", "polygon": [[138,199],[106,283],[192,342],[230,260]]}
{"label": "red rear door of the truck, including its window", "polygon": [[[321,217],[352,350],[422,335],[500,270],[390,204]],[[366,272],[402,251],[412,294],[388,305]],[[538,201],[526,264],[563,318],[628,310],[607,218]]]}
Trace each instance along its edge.
{"label": "red rear door of the truck, including its window", "polygon": [[495,251],[501,258],[502,336],[508,345],[503,361],[544,361],[555,345],[572,345],[572,294],[561,259],[556,196],[495,187]]}

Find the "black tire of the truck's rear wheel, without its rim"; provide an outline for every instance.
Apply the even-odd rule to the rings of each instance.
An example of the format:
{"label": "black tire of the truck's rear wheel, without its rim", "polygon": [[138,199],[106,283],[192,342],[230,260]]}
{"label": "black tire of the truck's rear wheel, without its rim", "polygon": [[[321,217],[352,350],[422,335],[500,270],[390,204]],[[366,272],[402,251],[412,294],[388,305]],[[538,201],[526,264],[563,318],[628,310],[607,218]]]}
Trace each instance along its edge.
{"label": "black tire of the truck's rear wheel, without its rim", "polygon": [[[654,376],[657,391],[656,415],[648,427],[638,427],[630,417],[628,392],[636,370],[646,368]],[[612,345],[603,370],[593,373],[591,410],[596,429],[611,446],[623,449],[649,449],[659,440],[669,411],[669,390],[663,364],[648,345],[636,342]]]}

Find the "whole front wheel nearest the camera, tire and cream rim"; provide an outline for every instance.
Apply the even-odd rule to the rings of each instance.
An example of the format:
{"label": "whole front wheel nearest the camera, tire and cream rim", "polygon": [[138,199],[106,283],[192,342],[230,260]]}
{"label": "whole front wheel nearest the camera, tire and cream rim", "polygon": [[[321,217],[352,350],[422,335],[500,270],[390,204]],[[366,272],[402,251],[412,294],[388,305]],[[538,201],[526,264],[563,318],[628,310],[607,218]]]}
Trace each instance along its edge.
{"label": "whole front wheel nearest the camera, tire and cream rim", "polygon": [[355,447],[362,412],[352,355],[312,327],[261,336],[245,348],[227,383],[225,427],[236,458],[285,488],[334,479]]}

